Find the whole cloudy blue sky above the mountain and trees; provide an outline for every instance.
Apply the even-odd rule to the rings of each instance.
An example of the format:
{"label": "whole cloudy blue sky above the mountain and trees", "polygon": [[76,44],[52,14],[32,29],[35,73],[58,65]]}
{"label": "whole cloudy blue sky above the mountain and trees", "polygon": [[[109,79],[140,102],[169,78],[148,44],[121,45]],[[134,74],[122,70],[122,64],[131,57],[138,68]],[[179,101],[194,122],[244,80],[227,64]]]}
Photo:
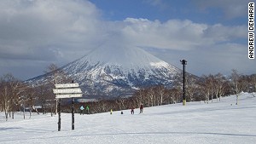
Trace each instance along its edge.
{"label": "whole cloudy blue sky above the mountain and trees", "polygon": [[195,75],[256,73],[247,59],[249,0],[2,0],[0,75],[63,66],[102,43],[140,47]]}

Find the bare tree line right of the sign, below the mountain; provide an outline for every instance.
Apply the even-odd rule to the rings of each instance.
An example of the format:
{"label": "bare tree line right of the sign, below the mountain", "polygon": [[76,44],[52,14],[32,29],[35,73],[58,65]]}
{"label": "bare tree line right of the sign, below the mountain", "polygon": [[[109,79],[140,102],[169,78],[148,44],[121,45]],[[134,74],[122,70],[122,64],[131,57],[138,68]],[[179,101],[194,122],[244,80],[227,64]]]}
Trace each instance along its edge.
{"label": "bare tree line right of the sign, below the mountain", "polygon": [[[192,75],[189,75],[192,76]],[[186,78],[186,101],[204,101],[205,103],[221,101],[224,95],[236,95],[238,104],[241,92],[256,92],[256,74],[242,75],[236,70],[230,76],[221,73],[204,75],[201,78]],[[255,97],[255,95],[253,95]],[[131,97],[118,97],[115,100],[100,100],[88,102],[90,112],[109,112],[112,110],[125,110],[131,107],[154,107],[183,101],[182,79],[176,78],[172,88],[165,85],[156,85],[145,89],[138,89]],[[79,104],[77,104],[79,110]]]}

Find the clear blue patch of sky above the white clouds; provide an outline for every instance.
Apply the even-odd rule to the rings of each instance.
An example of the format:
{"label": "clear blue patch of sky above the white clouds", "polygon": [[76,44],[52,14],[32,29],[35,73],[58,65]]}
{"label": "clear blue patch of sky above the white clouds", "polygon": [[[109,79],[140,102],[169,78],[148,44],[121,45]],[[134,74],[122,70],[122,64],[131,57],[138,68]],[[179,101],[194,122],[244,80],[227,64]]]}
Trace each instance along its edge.
{"label": "clear blue patch of sky above the white clouds", "polygon": [[[125,20],[127,17],[144,18],[148,20],[192,20],[197,23],[224,25],[242,25],[246,24],[246,11],[239,14],[232,14],[229,7],[235,2],[235,7],[246,7],[244,2],[217,1],[212,3],[207,1],[196,0],[90,0],[102,10],[103,19],[105,20]],[[212,3],[212,5],[210,3]],[[209,4],[206,4],[209,3]],[[241,3],[245,3],[241,6]],[[222,5],[225,5],[224,8]],[[243,8],[244,9],[244,8]]]}

